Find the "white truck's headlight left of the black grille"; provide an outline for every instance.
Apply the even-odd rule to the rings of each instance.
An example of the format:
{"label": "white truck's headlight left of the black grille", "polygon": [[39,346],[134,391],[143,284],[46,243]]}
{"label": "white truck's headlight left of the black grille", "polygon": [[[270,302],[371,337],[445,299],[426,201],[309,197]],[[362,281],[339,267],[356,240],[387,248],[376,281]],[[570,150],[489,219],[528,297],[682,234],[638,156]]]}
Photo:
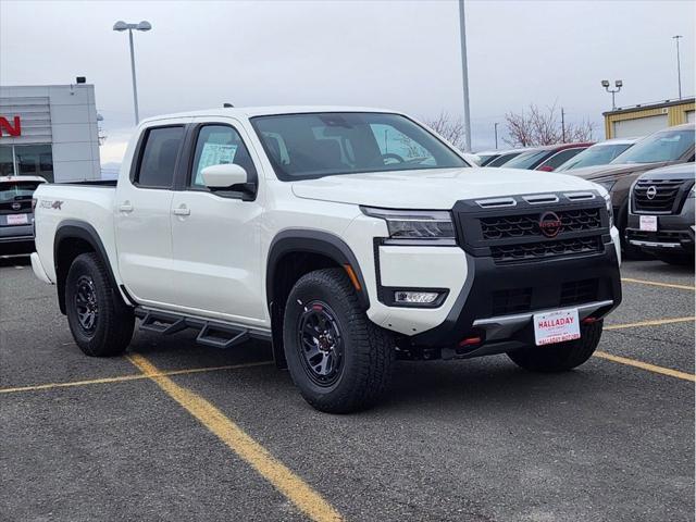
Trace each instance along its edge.
{"label": "white truck's headlight left of the black grille", "polygon": [[391,245],[456,245],[451,214],[444,210],[391,210],[360,207],[362,213],[387,222]]}

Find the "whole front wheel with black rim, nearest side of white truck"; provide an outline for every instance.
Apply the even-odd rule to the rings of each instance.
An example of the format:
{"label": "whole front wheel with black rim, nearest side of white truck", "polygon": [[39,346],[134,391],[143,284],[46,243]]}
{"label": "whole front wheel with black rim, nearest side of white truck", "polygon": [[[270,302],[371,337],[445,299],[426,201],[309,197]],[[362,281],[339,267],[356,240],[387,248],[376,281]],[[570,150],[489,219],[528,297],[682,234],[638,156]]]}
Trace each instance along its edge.
{"label": "whole front wheel with black rim, nearest side of white truck", "polygon": [[368,319],[341,269],[297,281],[285,307],[283,344],[295,385],[320,411],[366,409],[389,384],[391,335]]}

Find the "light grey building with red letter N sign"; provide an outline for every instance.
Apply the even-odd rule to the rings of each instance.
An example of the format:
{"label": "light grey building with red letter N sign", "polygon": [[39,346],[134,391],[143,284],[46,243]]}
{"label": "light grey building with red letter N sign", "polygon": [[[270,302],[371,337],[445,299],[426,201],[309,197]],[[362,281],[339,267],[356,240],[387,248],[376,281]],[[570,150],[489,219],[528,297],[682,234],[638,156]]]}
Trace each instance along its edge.
{"label": "light grey building with red letter N sign", "polygon": [[101,177],[94,85],[0,86],[0,176],[8,175]]}

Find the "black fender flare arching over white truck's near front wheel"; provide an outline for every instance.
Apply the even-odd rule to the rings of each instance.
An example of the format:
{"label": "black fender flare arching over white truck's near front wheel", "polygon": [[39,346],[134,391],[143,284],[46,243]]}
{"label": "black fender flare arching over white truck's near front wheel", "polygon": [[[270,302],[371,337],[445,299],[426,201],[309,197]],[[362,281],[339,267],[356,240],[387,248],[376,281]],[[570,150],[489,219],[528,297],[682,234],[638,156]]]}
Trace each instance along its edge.
{"label": "black fender flare arching over white truck's near front wheel", "polygon": [[320,253],[332,259],[340,266],[350,265],[358,278],[358,283],[360,283],[360,290],[358,291],[360,304],[365,310],[370,308],[365,281],[362,277],[358,259],[350,247],[340,237],[327,232],[294,228],[278,233],[269,248],[265,271],[265,295],[269,309],[275,297],[273,282],[275,281],[278,262],[283,256],[291,252]]}

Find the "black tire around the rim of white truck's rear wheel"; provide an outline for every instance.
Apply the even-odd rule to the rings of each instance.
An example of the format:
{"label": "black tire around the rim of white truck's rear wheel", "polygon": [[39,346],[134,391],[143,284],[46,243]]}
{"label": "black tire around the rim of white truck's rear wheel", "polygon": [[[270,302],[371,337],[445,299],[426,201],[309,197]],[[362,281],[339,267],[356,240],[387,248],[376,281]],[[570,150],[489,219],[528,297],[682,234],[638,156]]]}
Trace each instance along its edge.
{"label": "black tire around the rim of white truck's rear wheel", "polygon": [[[80,325],[76,304],[80,278],[91,282],[97,303],[97,319],[94,330],[89,332]],[[121,355],[133,338],[135,325],[133,310],[123,302],[117,290],[113,288],[107,268],[94,252],[77,256],[71,264],[65,281],[65,309],[73,338],[87,356]]]}

